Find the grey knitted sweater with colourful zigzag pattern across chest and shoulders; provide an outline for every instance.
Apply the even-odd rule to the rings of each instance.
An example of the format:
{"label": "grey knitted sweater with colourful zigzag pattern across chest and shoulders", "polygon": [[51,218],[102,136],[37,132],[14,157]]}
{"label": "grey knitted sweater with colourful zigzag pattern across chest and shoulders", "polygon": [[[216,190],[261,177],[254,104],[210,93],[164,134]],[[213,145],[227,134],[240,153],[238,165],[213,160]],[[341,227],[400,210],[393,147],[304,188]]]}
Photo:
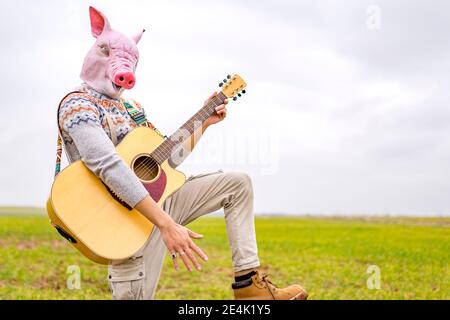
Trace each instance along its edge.
{"label": "grey knitted sweater with colourful zigzag pattern across chest and shoulders", "polygon": [[[122,99],[112,99],[86,84],[76,91],[81,93],[66,97],[58,113],[68,160],[82,160],[119,198],[134,207],[148,191],[117,154],[112,138],[115,133],[119,143],[137,123],[128,114]],[[134,105],[144,112],[138,103]],[[107,117],[114,132],[110,131]]]}

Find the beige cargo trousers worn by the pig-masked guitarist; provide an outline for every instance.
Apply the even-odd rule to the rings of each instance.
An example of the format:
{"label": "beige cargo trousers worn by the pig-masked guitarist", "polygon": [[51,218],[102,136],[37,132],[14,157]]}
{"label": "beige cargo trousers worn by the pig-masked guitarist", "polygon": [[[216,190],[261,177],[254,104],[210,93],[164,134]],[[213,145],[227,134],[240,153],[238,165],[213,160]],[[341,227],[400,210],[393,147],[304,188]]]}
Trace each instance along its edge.
{"label": "beige cargo trousers worn by the pig-masked guitarist", "polygon": [[[253,188],[248,175],[218,171],[191,176],[164,203],[164,210],[182,225],[220,208],[225,212],[234,271],[258,267]],[[113,299],[153,299],[166,251],[159,230],[154,228],[136,255],[110,265],[108,281]],[[182,261],[179,263],[182,267]]]}

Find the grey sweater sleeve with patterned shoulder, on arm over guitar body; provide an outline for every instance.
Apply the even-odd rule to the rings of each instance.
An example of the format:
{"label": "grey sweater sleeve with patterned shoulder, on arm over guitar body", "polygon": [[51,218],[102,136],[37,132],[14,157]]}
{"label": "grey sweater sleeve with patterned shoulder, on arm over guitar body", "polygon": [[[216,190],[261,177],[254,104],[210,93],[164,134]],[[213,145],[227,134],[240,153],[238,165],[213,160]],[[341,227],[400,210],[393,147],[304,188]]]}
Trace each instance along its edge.
{"label": "grey sweater sleeve with patterned shoulder, on arm over guitar body", "polygon": [[126,165],[102,128],[97,106],[86,99],[61,105],[59,125],[73,140],[81,161],[119,198],[135,207],[148,191]]}

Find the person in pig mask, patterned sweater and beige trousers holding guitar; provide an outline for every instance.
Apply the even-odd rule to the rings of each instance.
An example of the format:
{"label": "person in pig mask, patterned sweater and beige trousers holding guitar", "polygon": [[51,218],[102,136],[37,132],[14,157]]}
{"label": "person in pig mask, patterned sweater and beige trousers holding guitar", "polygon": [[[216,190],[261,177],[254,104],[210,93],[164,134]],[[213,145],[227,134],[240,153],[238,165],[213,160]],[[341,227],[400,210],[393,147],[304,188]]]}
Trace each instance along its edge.
{"label": "person in pig mask, patterned sweater and beige trousers holding guitar", "polygon": [[[100,11],[90,7],[89,13],[96,42],[84,60],[83,84],[68,94],[58,109],[66,154],[70,162],[81,159],[114,193],[155,225],[139,252],[109,265],[113,299],[153,299],[166,251],[172,255],[176,269],[183,263],[189,271],[201,270],[200,261],[208,258],[193,239],[202,236],[185,225],[221,208],[231,247],[235,298],[306,299],[308,294],[300,285],[277,288],[259,270],[253,188],[247,174],[217,171],[191,176],[159,207],[121,160],[115,145],[138,126],[125,104],[132,104],[145,115],[139,103],[121,98],[123,91],[131,89],[136,81],[136,45],[143,31],[128,37],[113,30]],[[226,104],[225,100],[202,124],[200,136],[209,126],[225,119]],[[198,139],[193,135],[187,141],[192,149]]]}

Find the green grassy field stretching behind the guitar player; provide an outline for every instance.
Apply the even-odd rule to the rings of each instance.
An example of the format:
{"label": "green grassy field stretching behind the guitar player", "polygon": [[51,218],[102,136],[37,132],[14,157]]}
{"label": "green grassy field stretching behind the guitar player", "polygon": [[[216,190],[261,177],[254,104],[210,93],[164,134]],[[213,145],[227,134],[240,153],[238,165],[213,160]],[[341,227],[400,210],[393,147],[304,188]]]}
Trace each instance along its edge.
{"label": "green grassy field stretching behind the guitar player", "polygon": [[[448,218],[258,218],[260,258],[282,286],[300,282],[311,299],[450,299]],[[210,260],[201,273],[166,259],[157,299],[231,299],[230,253],[221,217],[191,225]],[[67,267],[81,289],[66,288]],[[368,289],[377,265],[381,288]],[[0,299],[109,299],[106,268],[77,253],[43,216],[0,216]]]}

